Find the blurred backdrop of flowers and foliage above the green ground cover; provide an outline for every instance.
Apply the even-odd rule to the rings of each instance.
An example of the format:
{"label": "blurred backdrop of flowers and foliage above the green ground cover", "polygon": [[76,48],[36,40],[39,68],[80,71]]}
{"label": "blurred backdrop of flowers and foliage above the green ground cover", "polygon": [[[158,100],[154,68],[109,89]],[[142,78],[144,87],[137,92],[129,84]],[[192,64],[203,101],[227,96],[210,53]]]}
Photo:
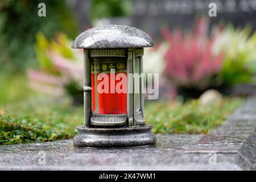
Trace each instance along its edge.
{"label": "blurred backdrop of flowers and foliage above the green ground cover", "polygon": [[[148,32],[144,71],[160,73],[160,98],[197,98],[208,89],[250,94],[255,88],[256,1],[51,0],[0,2],[0,104],[46,93],[82,100],[82,31],[127,24]],[[157,65],[157,67],[155,67]]]}

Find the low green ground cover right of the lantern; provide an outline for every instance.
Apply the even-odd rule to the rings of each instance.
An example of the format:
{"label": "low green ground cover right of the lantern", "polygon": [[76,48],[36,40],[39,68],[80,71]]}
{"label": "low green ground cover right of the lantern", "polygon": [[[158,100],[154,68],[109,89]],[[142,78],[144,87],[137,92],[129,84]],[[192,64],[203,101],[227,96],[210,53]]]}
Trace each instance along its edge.
{"label": "low green ground cover right of the lantern", "polygon": [[179,102],[151,102],[146,107],[146,121],[154,133],[205,134],[221,125],[225,118],[242,103],[242,98],[225,98],[212,105],[201,105],[198,100]]}

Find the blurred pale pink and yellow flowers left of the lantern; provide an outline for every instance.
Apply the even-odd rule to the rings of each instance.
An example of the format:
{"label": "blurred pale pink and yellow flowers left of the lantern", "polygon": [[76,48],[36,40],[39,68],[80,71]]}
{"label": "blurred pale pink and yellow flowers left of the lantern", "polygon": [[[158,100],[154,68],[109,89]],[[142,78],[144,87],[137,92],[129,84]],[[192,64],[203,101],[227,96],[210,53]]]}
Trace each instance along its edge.
{"label": "blurred pale pink and yellow flowers left of the lantern", "polygon": [[[35,52],[40,69],[28,70],[32,89],[55,96],[77,94],[82,90],[82,51],[72,49],[71,44],[64,34],[57,35],[51,42],[42,32],[36,34]],[[71,90],[76,91],[71,93]]]}

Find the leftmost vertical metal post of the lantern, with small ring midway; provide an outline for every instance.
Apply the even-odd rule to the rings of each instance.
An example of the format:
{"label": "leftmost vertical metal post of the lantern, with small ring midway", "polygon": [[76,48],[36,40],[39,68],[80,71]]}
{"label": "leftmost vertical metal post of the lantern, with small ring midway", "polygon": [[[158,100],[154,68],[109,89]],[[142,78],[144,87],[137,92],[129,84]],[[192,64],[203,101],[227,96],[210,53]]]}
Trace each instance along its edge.
{"label": "leftmost vertical metal post of the lantern, with small ring midway", "polygon": [[84,49],[84,126],[90,126],[90,114],[92,113],[92,86],[91,86],[91,65],[89,50]]}

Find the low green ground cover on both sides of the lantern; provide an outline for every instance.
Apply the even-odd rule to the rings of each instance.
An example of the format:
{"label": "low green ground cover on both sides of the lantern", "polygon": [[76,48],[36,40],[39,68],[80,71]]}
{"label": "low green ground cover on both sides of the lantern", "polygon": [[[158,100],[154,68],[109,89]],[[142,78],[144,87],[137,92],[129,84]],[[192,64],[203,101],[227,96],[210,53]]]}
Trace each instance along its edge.
{"label": "low green ground cover on both sides of the lantern", "polygon": [[[242,103],[241,98],[226,98],[220,104],[202,106],[192,100],[146,102],[146,121],[154,133],[207,133]],[[83,123],[82,106],[67,100],[40,97],[0,106],[0,144],[46,142],[72,138]]]}

